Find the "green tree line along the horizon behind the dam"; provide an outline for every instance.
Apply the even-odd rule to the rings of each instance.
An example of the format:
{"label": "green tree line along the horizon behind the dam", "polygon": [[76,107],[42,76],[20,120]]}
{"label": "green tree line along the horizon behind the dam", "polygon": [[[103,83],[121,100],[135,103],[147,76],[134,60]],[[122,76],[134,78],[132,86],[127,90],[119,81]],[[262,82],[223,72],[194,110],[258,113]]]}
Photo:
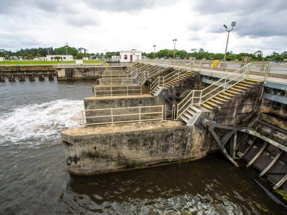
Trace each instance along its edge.
{"label": "green tree line along the horizon behind the dam", "polygon": [[[104,53],[88,53],[88,49],[86,48],[75,48],[75,47],[70,47],[66,48],[66,46],[62,46],[59,48],[53,49],[53,47],[48,47],[48,48],[25,48],[25,49],[20,49],[17,50],[16,52],[11,52],[5,49],[0,49],[0,56],[5,57],[7,59],[10,58],[10,56],[17,56],[17,57],[22,57],[23,59],[27,57],[28,59],[33,59],[34,57],[42,57],[46,56],[48,54],[50,55],[66,55],[68,52],[69,55],[73,55],[74,58],[83,58],[83,57],[89,57],[89,56],[104,56],[105,58],[111,58],[113,55],[119,55],[119,52],[106,52]],[[159,50],[158,52],[142,52],[142,56],[146,56],[148,58],[163,58],[163,57],[173,57],[174,56],[174,50],[170,49],[162,49]],[[203,48],[193,48],[190,50],[190,52],[187,52],[186,50],[175,50],[175,56],[180,56],[181,59],[183,58],[189,58],[189,57],[195,57],[196,59],[217,59],[221,60],[224,58],[224,54],[222,53],[212,53],[203,50]],[[232,51],[226,53],[226,60],[242,60],[243,56],[250,56],[252,60],[263,60],[263,59],[273,59],[273,60],[284,60],[287,59],[287,52],[283,52],[281,54],[273,52],[271,55],[263,57],[263,52],[260,50],[254,52],[254,53],[239,53],[235,54]]]}

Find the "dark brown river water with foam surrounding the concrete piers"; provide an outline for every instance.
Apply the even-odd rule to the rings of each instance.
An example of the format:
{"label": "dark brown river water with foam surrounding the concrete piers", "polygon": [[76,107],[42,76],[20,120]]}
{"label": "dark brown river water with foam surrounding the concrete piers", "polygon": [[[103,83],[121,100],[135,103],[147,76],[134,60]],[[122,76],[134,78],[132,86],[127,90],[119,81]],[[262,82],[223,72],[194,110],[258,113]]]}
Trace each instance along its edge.
{"label": "dark brown river water with foam surrounding the concrete piers", "polygon": [[0,214],[286,214],[224,158],[76,177],[60,132],[94,81],[0,83]]}

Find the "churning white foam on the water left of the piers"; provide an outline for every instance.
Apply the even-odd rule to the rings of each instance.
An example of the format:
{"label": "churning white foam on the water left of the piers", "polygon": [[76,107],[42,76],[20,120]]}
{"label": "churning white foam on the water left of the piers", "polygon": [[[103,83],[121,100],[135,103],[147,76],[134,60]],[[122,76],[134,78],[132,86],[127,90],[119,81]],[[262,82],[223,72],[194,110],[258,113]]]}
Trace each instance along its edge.
{"label": "churning white foam on the water left of the piers", "polygon": [[83,100],[69,99],[17,106],[0,118],[0,146],[57,142],[62,130],[81,125],[83,109]]}

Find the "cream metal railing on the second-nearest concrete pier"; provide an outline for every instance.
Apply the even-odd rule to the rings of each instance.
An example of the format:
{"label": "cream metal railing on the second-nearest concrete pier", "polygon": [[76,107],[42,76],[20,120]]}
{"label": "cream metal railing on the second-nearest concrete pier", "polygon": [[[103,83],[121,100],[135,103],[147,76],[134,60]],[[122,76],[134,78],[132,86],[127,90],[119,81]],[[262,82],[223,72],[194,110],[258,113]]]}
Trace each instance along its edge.
{"label": "cream metal railing on the second-nearest concrete pier", "polygon": [[141,85],[94,86],[94,96],[141,94]]}

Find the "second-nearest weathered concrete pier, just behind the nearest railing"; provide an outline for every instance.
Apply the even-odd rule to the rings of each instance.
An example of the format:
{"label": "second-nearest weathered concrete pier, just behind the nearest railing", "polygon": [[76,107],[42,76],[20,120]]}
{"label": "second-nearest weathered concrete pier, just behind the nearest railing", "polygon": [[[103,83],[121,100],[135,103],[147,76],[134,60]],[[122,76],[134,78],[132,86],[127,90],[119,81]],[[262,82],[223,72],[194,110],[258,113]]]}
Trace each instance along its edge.
{"label": "second-nearest weathered concrete pier, just behind the nearest railing", "polygon": [[145,95],[113,95],[113,96],[97,96],[84,98],[85,110],[118,108],[118,107],[140,107],[165,105],[164,98]]}

